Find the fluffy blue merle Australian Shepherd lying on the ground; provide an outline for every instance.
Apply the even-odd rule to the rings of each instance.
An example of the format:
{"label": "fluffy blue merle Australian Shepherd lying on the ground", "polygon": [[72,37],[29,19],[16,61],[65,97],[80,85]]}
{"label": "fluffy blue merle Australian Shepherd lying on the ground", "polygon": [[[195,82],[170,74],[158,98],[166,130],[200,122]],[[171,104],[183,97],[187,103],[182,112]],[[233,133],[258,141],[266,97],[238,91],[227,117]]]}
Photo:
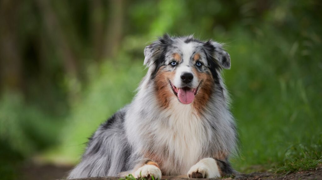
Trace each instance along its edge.
{"label": "fluffy blue merle Australian Shepherd lying on the ground", "polygon": [[237,133],[221,76],[231,62],[222,44],[165,34],[144,55],[137,95],[99,126],[68,178],[234,173]]}

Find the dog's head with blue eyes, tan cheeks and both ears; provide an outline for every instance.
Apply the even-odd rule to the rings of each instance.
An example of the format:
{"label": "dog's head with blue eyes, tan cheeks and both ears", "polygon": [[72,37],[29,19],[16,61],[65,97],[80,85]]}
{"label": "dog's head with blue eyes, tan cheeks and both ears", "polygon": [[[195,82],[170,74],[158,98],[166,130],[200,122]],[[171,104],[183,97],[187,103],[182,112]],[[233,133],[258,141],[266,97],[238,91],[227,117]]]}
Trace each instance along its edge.
{"label": "dog's head with blue eyes, tan cheeks and both ears", "polygon": [[180,103],[205,103],[220,85],[220,70],[230,68],[230,56],[222,45],[200,41],[192,36],[170,37],[165,34],[144,49],[144,64],[154,80],[156,96],[162,106],[171,98]]}

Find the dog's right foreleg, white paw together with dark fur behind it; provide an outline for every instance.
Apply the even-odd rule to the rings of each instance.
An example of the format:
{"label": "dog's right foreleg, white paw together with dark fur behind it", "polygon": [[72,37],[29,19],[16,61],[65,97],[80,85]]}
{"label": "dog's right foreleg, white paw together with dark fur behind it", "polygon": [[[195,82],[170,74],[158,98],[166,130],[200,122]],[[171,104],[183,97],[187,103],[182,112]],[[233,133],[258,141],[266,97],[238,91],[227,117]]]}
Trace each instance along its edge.
{"label": "dog's right foreleg, white paw together with dark fur behind it", "polygon": [[187,175],[189,178],[214,178],[230,175],[232,172],[228,161],[204,158],[192,166]]}

